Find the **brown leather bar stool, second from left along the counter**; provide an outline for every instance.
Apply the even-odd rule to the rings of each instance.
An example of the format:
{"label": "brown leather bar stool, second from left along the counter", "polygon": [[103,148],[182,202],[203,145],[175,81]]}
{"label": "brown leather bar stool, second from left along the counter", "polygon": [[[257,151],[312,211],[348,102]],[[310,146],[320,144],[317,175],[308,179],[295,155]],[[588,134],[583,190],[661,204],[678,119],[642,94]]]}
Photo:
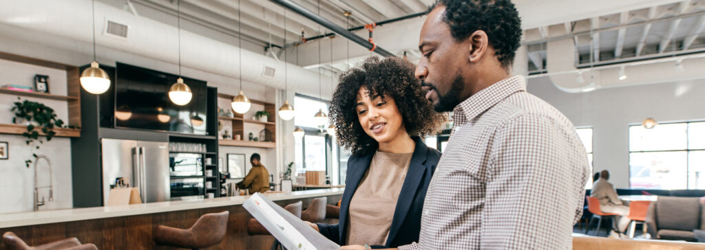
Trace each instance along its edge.
{"label": "brown leather bar stool, second from left along the counter", "polygon": [[206,213],[188,229],[158,225],[154,242],[161,246],[201,249],[219,244],[225,237],[230,212]]}

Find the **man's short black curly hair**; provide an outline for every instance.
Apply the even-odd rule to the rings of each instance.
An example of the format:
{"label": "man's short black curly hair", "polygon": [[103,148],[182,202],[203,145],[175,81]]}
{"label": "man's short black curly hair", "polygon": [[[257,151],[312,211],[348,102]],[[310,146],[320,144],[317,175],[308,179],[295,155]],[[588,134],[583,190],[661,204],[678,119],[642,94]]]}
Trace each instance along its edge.
{"label": "man's short black curly hair", "polygon": [[455,41],[483,30],[498,61],[504,68],[509,68],[522,37],[522,21],[510,0],[438,0],[429,12],[437,6],[446,6],[443,22],[450,27],[450,35]]}

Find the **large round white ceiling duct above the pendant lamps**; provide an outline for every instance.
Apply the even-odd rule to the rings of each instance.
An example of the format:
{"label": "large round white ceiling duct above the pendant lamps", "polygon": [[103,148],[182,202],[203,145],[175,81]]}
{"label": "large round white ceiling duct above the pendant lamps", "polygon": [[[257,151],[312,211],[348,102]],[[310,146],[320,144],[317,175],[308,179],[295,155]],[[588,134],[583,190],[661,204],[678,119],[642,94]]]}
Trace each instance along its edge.
{"label": "large round white ceiling duct above the pendant lamps", "polygon": [[[86,54],[87,45],[91,42],[91,4],[86,0],[32,0],[7,1],[0,0],[0,33],[3,37],[13,37],[26,44],[41,44],[52,48],[72,52],[73,55]],[[99,47],[104,49],[104,58],[109,51],[120,51],[125,54],[152,58],[157,61],[176,64],[177,28],[157,20],[133,15],[121,8],[97,1],[95,3],[96,20],[111,20],[111,22],[128,27],[124,39],[115,39],[114,35],[96,37]],[[176,19],[176,17],[175,17]],[[103,22],[104,25],[107,22]],[[105,27],[96,27],[97,33]],[[118,29],[119,30],[119,29]],[[118,34],[123,34],[118,32]],[[37,37],[42,39],[37,40]],[[55,38],[55,39],[52,39]],[[68,41],[68,42],[67,42]],[[183,66],[207,73],[226,77],[238,77],[238,47],[219,42],[208,37],[197,35],[186,30],[181,31],[181,54]],[[13,51],[6,51],[13,53]],[[80,56],[79,56],[80,57]],[[99,56],[100,57],[100,56]],[[242,50],[242,78],[245,82],[284,88],[284,62],[252,51]],[[126,62],[129,63],[129,62]],[[75,63],[74,63],[75,64]],[[147,66],[149,65],[142,65]],[[174,68],[176,70],[176,68]],[[310,84],[318,78],[318,73],[306,70],[289,63],[289,89],[302,94],[318,94],[317,85]],[[327,78],[327,77],[324,77]],[[323,93],[324,98],[330,96]]]}

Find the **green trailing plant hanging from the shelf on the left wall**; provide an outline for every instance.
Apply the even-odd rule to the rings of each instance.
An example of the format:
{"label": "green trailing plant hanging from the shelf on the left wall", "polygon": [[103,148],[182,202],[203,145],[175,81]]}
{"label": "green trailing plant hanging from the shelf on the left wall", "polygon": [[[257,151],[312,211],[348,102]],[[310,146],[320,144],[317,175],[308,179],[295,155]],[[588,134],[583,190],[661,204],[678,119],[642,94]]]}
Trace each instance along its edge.
{"label": "green trailing plant hanging from the shelf on the left wall", "polygon": [[[17,98],[18,100],[20,97]],[[32,145],[32,149],[39,149],[39,144],[43,144],[42,137],[46,137],[47,142],[56,135],[54,127],[66,127],[63,125],[63,120],[56,118],[54,109],[36,101],[16,101],[15,106],[11,111],[15,113],[12,122],[15,124],[27,125],[27,131],[22,135],[27,138],[27,145]],[[39,134],[39,131],[42,134]],[[37,144],[39,142],[39,144]],[[32,157],[37,158],[37,154],[32,152]],[[30,167],[32,160],[25,161],[27,168]]]}

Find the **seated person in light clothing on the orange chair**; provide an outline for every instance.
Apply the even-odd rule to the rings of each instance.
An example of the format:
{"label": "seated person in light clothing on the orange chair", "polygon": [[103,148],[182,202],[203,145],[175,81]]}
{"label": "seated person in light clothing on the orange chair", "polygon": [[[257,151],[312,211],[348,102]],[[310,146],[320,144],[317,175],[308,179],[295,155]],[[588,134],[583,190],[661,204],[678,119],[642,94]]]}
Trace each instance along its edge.
{"label": "seated person in light clothing on the orange chair", "polygon": [[[592,185],[590,196],[600,200],[600,210],[604,213],[620,215],[618,216],[617,228],[620,233],[623,233],[630,223],[630,219],[626,216],[629,215],[629,206],[619,199],[615,187],[608,180],[610,180],[610,171],[602,170],[600,178]],[[617,236],[613,232],[610,232],[610,235]]]}

